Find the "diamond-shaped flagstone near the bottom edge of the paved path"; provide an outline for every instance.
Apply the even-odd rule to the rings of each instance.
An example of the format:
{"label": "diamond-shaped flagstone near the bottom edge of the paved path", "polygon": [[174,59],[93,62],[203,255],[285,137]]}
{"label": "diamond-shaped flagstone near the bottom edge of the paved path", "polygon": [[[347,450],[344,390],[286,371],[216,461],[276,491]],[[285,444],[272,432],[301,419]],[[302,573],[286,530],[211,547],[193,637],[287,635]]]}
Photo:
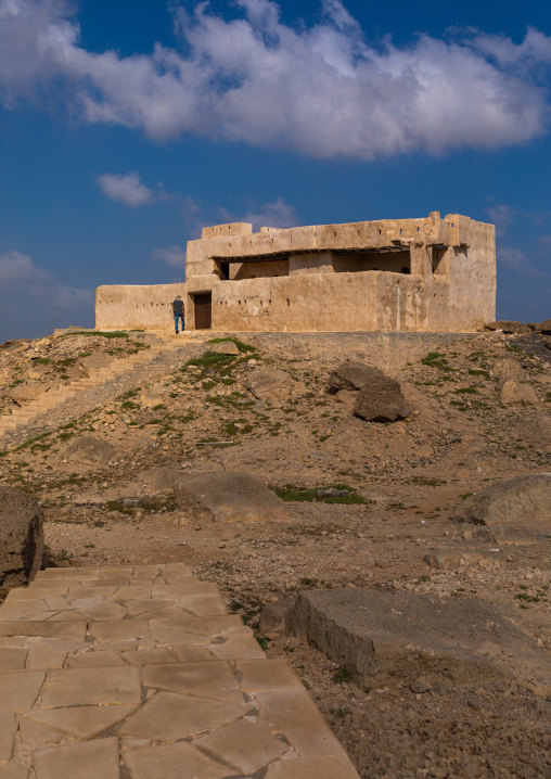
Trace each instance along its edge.
{"label": "diamond-shaped flagstone near the bottom edge of the paved path", "polygon": [[255,774],[289,750],[269,730],[246,719],[202,736],[194,743],[242,774]]}

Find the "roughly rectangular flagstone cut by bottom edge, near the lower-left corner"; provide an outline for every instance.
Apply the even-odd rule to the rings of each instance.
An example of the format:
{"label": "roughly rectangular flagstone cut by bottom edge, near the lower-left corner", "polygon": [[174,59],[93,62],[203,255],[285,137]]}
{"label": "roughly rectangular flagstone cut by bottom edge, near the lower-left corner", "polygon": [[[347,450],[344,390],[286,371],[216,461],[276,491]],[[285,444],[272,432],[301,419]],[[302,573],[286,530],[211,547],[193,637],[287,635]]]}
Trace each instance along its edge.
{"label": "roughly rectangular flagstone cut by bottom edge, near the lower-left corner", "polygon": [[119,779],[117,739],[49,746],[33,754],[37,779]]}

